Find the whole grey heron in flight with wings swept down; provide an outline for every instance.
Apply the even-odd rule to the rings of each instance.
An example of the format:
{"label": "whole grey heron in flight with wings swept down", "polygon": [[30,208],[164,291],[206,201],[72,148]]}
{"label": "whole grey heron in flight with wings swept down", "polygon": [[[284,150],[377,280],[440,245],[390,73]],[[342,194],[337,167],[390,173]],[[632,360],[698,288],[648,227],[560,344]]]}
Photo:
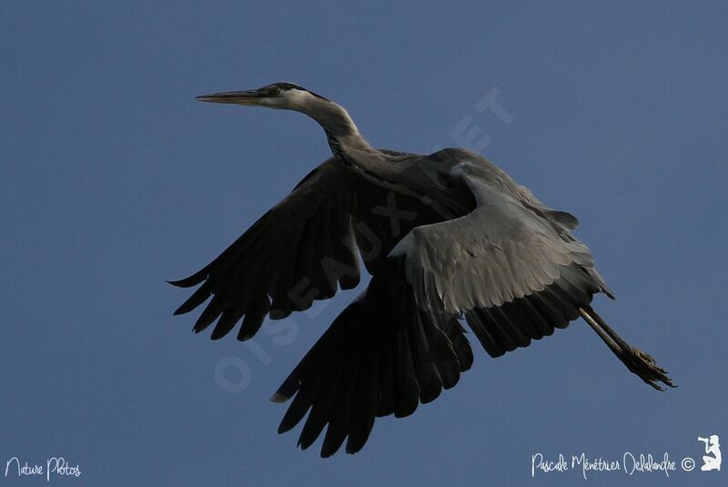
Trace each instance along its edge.
{"label": "whole grey heron in flight with wings swept down", "polygon": [[175,286],[199,286],[176,311],[202,305],[194,330],[215,323],[248,340],[279,320],[372,278],[273,394],[293,398],[278,432],[308,417],[298,445],[326,428],[321,456],[359,451],[376,417],[412,414],[469,370],[460,320],[491,357],[527,347],[580,316],[653,388],[672,381],[591,308],[612,292],[571,214],[544,206],[477,154],[377,149],[349,113],[291,83],[197,96],[205,102],[301,112],[326,132],[332,157],[311,171],[217,259]]}

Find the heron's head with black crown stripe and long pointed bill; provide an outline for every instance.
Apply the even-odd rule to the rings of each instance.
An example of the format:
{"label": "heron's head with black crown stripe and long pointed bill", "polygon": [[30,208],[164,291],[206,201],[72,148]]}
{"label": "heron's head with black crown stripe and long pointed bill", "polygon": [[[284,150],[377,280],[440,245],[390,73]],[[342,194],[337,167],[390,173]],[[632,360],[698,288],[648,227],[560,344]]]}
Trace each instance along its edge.
{"label": "heron's head with black crown stripe and long pointed bill", "polygon": [[227,91],[197,96],[210,103],[231,103],[245,107],[268,107],[307,113],[311,107],[329,100],[293,83],[274,83],[258,89]]}

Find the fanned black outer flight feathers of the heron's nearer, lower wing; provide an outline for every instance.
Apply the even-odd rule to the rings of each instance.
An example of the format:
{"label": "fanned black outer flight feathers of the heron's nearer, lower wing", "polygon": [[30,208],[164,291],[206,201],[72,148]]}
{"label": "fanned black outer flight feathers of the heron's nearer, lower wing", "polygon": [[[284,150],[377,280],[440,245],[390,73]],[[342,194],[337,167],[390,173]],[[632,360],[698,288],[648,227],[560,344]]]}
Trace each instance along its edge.
{"label": "fanned black outer flight feathers of the heron's nearer, lower wing", "polygon": [[369,289],[329,327],[270,398],[295,395],[278,432],[291,430],[308,412],[298,439],[308,448],[329,425],[321,456],[329,457],[348,438],[359,451],[375,417],[409,416],[419,402],[433,401],[470,369],[472,350],[454,317],[425,313],[404,287],[394,294]]}

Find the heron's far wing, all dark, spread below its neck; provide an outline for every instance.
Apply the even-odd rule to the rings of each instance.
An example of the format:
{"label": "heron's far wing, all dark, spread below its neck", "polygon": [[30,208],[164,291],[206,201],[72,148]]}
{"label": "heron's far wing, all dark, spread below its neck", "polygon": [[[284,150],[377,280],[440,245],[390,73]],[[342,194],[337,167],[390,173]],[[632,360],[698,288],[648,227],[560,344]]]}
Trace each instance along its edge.
{"label": "heron's far wing, all dark, spread below its neck", "polygon": [[274,208],[187,279],[201,284],[175,314],[207,307],[195,323],[205,330],[217,320],[217,340],[245,317],[238,340],[255,335],[266,316],[285,318],[308,309],[314,299],[332,297],[337,287],[359,283],[359,261],[351,226],[353,177],[332,157],[304,178]]}

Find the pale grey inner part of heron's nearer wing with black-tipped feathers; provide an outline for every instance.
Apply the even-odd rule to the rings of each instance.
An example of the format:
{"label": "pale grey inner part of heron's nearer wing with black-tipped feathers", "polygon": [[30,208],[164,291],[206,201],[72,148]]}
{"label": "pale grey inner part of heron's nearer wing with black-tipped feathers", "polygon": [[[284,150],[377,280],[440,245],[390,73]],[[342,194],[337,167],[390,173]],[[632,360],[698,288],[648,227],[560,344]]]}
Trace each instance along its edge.
{"label": "pale grey inner part of heron's nearer wing with black-tipped feathers", "polygon": [[597,292],[612,296],[589,249],[571,236],[576,218],[543,207],[490,166],[460,165],[478,207],[414,228],[392,249],[420,309],[464,314],[497,357],[551,335]]}

